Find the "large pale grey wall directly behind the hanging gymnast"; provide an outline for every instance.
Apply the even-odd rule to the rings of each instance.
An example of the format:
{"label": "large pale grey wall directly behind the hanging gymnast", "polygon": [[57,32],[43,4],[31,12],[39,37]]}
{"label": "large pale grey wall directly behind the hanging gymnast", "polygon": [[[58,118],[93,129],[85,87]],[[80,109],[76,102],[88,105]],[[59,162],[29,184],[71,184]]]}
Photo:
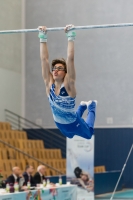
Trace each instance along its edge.
{"label": "large pale grey wall directly behind the hanging gymnast", "polygon": [[[131,0],[28,0],[26,28],[132,22],[132,10]],[[132,126],[132,36],[133,27],[77,31],[77,106],[81,100],[98,100],[97,127]],[[48,48],[50,62],[66,58],[63,31],[48,33]],[[26,118],[55,127],[41,75],[37,33],[26,34]]]}

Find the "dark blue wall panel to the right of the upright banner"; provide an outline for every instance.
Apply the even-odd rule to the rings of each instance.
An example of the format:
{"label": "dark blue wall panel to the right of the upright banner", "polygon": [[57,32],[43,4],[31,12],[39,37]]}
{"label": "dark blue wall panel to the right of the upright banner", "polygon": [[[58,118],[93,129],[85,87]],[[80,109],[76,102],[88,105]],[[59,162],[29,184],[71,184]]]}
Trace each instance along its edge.
{"label": "dark blue wall panel to the right of the upright banner", "polygon": [[[122,170],[133,143],[132,128],[95,129],[95,166],[107,171]],[[123,173],[123,187],[133,187],[133,152]]]}

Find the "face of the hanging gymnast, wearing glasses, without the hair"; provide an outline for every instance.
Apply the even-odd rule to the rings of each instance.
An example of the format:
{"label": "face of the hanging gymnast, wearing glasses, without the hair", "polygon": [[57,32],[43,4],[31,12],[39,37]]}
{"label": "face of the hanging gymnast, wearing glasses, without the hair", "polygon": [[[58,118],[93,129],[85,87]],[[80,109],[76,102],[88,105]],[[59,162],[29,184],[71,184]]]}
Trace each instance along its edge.
{"label": "face of the hanging gymnast, wearing glasses, without the hair", "polygon": [[55,81],[63,80],[66,75],[64,65],[61,63],[56,64],[52,69],[52,73],[53,73],[53,79]]}

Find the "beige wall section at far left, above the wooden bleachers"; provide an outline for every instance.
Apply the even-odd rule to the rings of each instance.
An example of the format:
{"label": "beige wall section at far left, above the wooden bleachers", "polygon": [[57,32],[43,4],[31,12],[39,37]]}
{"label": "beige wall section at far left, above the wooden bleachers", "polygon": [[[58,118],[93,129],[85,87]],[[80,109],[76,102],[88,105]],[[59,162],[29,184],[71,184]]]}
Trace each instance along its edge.
{"label": "beige wall section at far left, above the wooden bleachers", "polygon": [[[0,1],[0,29],[21,28],[21,6],[18,0]],[[21,38],[20,34],[0,35],[0,121],[5,121],[4,109],[21,115]]]}

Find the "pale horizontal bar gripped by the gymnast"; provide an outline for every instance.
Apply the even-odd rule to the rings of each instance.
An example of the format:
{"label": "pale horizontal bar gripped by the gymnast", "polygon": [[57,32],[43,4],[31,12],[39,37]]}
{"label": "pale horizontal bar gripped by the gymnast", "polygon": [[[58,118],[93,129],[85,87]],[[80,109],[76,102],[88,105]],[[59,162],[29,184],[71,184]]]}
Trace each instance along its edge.
{"label": "pale horizontal bar gripped by the gymnast", "polygon": [[[75,26],[74,30],[95,29],[95,28],[116,28],[116,27],[128,27],[128,26],[133,26],[133,23]],[[47,28],[47,31],[62,31],[64,30],[64,28],[65,27]],[[27,33],[27,32],[39,32],[39,30],[37,28],[36,29],[3,30],[3,31],[0,31],[0,34]]]}

